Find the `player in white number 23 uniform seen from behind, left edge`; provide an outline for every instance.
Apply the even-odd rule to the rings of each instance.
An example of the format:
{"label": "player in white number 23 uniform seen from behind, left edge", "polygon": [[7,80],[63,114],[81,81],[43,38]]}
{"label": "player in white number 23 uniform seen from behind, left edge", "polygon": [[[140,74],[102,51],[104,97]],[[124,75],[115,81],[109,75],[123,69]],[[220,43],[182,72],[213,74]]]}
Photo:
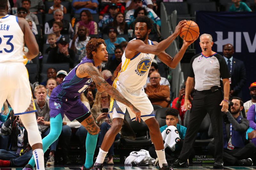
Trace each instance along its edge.
{"label": "player in white number 23 uniform seen from behind, left edge", "polygon": [[[14,115],[19,115],[28,132],[36,169],[44,170],[42,138],[38,130],[35,105],[25,64],[38,55],[35,36],[24,18],[8,15],[8,1],[0,0],[0,106],[7,99]],[[23,54],[24,43],[28,47]]]}

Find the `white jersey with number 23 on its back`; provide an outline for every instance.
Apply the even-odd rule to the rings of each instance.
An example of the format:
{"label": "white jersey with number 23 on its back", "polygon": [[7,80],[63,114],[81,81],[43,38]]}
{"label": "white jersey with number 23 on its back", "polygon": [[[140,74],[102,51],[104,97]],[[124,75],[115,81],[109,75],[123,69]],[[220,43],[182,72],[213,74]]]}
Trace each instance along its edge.
{"label": "white jersey with number 23 on its back", "polygon": [[25,62],[24,34],[13,15],[0,17],[0,63]]}

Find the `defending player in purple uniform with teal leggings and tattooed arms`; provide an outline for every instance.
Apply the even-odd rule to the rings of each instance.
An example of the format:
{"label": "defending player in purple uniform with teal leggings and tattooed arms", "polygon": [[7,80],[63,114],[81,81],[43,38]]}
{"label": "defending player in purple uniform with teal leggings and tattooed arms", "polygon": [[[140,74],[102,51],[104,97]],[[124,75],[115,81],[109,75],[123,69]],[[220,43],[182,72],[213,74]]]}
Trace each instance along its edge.
{"label": "defending player in purple uniform with teal leggings and tattooed arms", "polygon": [[[116,71],[114,76],[105,81],[100,73],[101,69],[97,68],[100,67],[102,62],[108,61],[108,52],[104,40],[95,38],[90,40],[86,45],[86,53],[87,57],[84,57],[81,63],[68,73],[63,82],[53,89],[49,100],[51,129],[50,133],[43,139],[43,150],[45,152],[60,136],[64,114],[70,121],[76,119],[80,122],[88,131],[85,144],[86,160],[83,170],[92,168],[93,154],[100,131],[88,108],[80,100],[80,94],[86,90],[92,81],[95,82],[99,92],[106,91],[114,99],[130,107],[136,115],[136,120],[140,121],[140,111],[111,86],[120,69]],[[33,169],[34,165],[35,161],[32,157],[26,168]]]}

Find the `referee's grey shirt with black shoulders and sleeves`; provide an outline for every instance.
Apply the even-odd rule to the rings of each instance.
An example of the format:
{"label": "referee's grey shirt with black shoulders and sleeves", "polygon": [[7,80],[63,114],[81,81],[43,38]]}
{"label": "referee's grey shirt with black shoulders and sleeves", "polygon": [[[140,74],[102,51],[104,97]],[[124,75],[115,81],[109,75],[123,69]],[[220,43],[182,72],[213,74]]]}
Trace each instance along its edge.
{"label": "referee's grey shirt with black shoulders and sleeves", "polygon": [[220,87],[220,78],[230,78],[228,66],[220,54],[204,56],[202,53],[192,57],[188,77],[195,78],[195,89],[210,90],[212,86]]}

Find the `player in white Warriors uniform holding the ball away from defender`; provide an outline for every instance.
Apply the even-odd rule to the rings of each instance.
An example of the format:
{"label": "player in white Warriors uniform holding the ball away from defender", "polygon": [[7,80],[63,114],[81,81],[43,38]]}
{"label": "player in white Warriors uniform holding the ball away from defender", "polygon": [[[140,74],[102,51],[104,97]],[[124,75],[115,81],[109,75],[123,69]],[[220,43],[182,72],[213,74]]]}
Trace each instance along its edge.
{"label": "player in white Warriors uniform holding the ball away from defender", "polygon": [[126,108],[132,120],[141,119],[147,124],[152,142],[156,148],[159,160],[159,170],[172,170],[167,164],[164,153],[163,138],[159,130],[159,124],[155,118],[155,112],[147,94],[144,92],[143,85],[147,81],[149,68],[155,55],[171,68],[175,68],[182,59],[186,49],[194,41],[183,41],[180,51],[172,58],[164,50],[179,35],[186,20],[180,21],[174,33],[160,43],[148,40],[148,34],[153,26],[153,21],[147,16],[141,16],[134,21],[136,39],[127,44],[122,56],[122,67],[115,79],[113,86],[135,107],[141,111],[141,116],[134,115],[129,108],[120,102],[111,99],[109,115],[113,119],[112,126],[106,133],[100,152],[97,156],[92,170],[102,170],[103,161],[108,150],[114,142],[116,134],[121,130],[124,113]]}

